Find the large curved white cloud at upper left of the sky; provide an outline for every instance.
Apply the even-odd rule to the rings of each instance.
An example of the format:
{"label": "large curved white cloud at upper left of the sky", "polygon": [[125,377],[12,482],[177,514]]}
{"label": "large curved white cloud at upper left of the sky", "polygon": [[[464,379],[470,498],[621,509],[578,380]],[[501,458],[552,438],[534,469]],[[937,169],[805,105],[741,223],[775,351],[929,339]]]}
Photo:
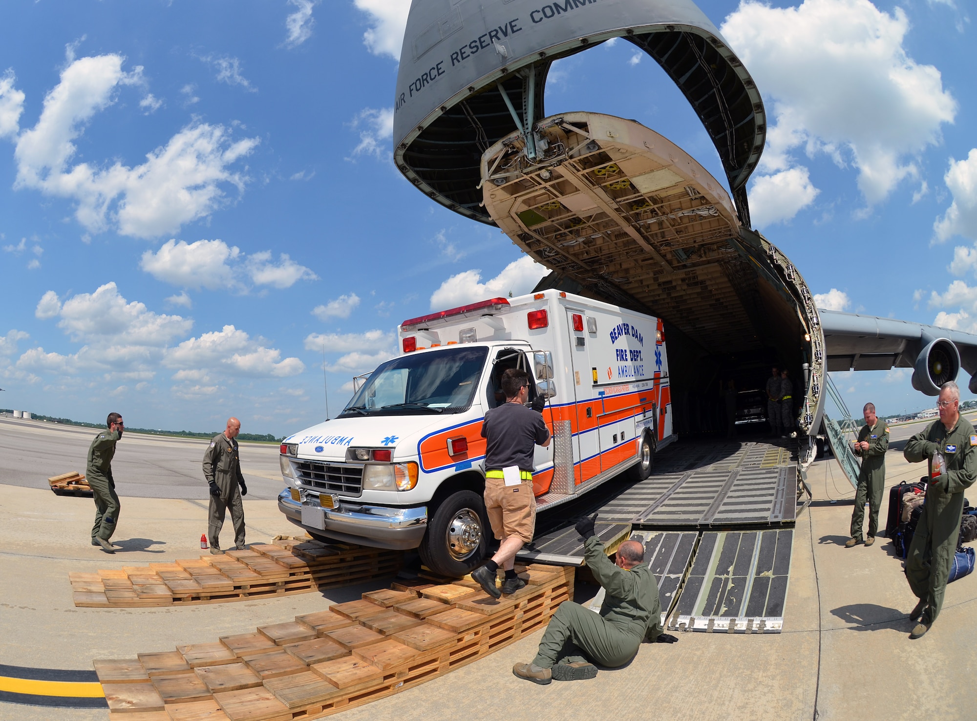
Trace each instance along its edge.
{"label": "large curved white cloud at upper left of the sky", "polygon": [[111,227],[135,237],[173,233],[219,208],[227,199],[224,186],[243,191],[246,177],[230,166],[259,141],[233,141],[223,125],[194,121],[147,153],[142,165],[71,165],[85,125],[114,103],[120,86],[143,83],[141,68],[125,73],[123,61],[103,55],[64,68],[35,126],[17,135],[15,188],[73,200],[75,218],[90,232]]}

